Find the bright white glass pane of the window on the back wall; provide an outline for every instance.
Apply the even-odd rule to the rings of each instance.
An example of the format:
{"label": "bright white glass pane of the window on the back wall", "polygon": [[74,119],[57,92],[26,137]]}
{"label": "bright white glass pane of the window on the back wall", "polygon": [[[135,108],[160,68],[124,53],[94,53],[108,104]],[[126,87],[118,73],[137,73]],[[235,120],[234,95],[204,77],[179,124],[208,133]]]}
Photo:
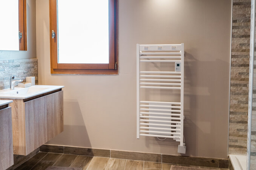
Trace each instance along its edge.
{"label": "bright white glass pane of the window on the back wall", "polygon": [[109,63],[108,0],[58,0],[58,63]]}

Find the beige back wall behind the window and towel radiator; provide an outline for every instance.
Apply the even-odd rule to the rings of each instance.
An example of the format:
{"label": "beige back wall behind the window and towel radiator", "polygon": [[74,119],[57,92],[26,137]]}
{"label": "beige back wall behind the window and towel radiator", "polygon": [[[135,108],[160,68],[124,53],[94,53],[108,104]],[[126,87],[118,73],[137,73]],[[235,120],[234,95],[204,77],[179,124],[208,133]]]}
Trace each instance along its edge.
{"label": "beige back wall behind the window and towel radiator", "polygon": [[231,0],[120,0],[119,75],[51,75],[49,2],[36,7],[39,84],[65,86],[49,144],[177,155],[172,139],[136,139],[136,43],[185,43],[186,155],[226,158]]}

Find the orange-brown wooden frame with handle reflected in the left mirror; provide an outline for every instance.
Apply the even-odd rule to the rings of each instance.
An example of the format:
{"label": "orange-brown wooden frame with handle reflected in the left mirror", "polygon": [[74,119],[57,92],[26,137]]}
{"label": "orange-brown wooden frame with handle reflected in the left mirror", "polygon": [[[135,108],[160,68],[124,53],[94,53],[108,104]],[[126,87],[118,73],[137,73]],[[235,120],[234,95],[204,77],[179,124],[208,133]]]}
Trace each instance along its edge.
{"label": "orange-brown wooden frame with handle reflected in the left mirror", "polygon": [[[22,33],[22,38],[19,39],[19,50],[28,50],[27,41],[27,0],[18,0],[19,14],[19,31]],[[18,34],[18,33],[17,33]]]}

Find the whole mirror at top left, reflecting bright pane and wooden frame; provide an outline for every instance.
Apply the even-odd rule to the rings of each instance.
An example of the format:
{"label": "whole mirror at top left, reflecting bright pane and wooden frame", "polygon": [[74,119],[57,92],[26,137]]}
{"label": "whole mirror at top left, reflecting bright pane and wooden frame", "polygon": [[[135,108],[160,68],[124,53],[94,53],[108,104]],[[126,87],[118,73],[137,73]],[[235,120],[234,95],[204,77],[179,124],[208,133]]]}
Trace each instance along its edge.
{"label": "whole mirror at top left, reflecting bright pane and wooden frame", "polygon": [[0,50],[27,50],[26,0],[0,0]]}

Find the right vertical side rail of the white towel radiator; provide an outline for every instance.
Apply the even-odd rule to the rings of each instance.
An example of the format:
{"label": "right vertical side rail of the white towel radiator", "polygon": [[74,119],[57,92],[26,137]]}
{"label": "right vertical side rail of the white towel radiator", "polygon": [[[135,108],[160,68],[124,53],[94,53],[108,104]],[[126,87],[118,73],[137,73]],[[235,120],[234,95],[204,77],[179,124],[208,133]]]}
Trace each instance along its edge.
{"label": "right vertical side rail of the white towel radiator", "polygon": [[184,128],[184,44],[181,44],[181,141],[180,146],[184,146],[183,128]]}

